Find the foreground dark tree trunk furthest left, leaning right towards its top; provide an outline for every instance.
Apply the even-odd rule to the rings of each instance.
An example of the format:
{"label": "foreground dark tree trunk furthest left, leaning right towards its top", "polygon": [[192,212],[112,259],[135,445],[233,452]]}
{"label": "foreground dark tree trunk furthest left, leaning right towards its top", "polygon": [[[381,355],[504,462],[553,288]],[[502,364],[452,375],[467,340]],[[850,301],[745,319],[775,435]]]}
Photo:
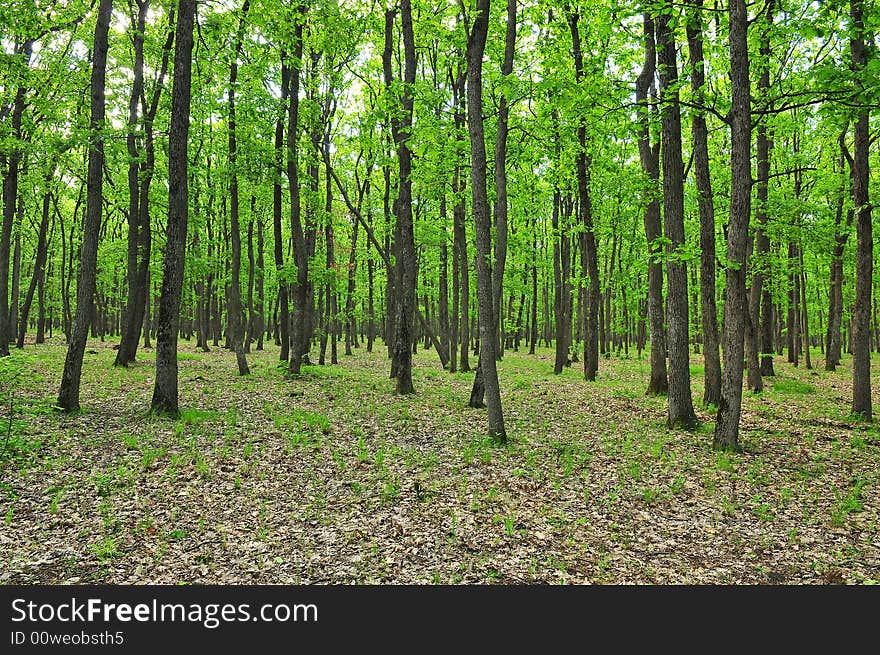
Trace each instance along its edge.
{"label": "foreground dark tree trunk furthest left, leaning right towards its top", "polygon": [[[58,407],[66,412],[79,410],[79,384],[82,361],[88,339],[89,323],[94,311],[95,278],[98,265],[98,236],[101,229],[104,183],[104,116],[106,110],[104,89],[107,73],[108,34],[112,0],[101,0],[95,24],[92,48],[92,76],[90,83],[91,119],[89,122],[89,164],[87,173],[86,219],[83,222],[83,241],[80,250],[80,268],[76,280],[76,316],[70,332],[70,343],[58,390]],[[4,209],[6,209],[4,207]],[[0,285],[2,286],[2,285]],[[2,295],[6,290],[0,288]],[[2,341],[5,346],[5,335]]]}

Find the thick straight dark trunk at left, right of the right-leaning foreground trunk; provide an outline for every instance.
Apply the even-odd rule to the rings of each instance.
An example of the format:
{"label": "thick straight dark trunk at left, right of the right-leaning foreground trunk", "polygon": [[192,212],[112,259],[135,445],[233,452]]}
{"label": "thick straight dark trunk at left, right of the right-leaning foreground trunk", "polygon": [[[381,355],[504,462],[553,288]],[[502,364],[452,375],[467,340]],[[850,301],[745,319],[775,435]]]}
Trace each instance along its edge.
{"label": "thick straight dark trunk at left, right of the right-leaning foreground trunk", "polygon": [[151,404],[152,411],[169,416],[180,413],[177,336],[189,220],[187,168],[195,14],[195,0],[180,0],[174,47],[171,128],[168,135],[168,227],[156,326],[156,381]]}

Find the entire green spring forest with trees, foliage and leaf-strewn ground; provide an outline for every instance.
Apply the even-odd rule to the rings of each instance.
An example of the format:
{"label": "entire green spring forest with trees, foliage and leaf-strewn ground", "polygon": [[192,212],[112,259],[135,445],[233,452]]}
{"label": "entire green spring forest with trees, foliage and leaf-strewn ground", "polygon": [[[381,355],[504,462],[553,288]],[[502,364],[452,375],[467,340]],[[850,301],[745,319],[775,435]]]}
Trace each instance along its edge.
{"label": "entire green spring forest with trees, foliage and leaf-strewn ground", "polygon": [[0,0],[0,583],[877,584],[878,31]]}

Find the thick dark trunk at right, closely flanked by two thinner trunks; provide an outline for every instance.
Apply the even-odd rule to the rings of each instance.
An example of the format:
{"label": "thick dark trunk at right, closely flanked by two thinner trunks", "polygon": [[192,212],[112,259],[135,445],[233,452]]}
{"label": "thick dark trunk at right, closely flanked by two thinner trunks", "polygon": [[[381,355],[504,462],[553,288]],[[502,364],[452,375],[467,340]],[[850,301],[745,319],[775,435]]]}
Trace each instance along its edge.
{"label": "thick dark trunk at right, closely flanked by two thinner trunks", "polygon": [[669,426],[692,427],[697,420],[691,398],[688,349],[687,266],[684,234],[684,165],[675,37],[670,16],[657,17],[657,67],[660,73],[663,228],[667,239],[667,323],[669,345]]}

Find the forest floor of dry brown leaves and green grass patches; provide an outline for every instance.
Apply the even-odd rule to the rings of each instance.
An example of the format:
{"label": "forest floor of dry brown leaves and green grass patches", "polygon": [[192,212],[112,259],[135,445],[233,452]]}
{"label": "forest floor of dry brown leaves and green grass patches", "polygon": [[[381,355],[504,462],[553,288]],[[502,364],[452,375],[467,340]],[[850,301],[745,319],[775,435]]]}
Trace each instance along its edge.
{"label": "forest floor of dry brown leaves and green grass patches", "polygon": [[274,345],[240,378],[228,351],[184,341],[170,421],[147,413],[153,351],[114,369],[112,343],[90,340],[70,416],[52,408],[63,342],[14,355],[2,583],[880,580],[880,426],[848,416],[849,358],[828,373],[777,357],[745,395],[745,452],[724,454],[697,355],[702,425],[686,432],[645,397],[646,355],[602,359],[586,383],[579,363],[554,376],[548,349],[508,351],[499,447],[465,407],[473,374],[433,351],[399,397],[381,344],[288,380]]}

